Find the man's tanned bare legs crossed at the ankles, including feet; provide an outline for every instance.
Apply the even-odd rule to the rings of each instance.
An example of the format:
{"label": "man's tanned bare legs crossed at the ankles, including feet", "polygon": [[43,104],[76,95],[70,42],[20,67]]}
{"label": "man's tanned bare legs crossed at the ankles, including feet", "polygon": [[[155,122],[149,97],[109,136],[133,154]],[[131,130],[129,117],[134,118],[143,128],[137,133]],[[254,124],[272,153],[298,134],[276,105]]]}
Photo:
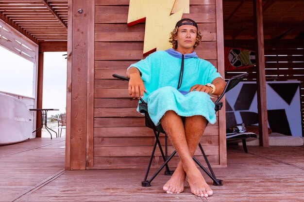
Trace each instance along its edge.
{"label": "man's tanned bare legs crossed at the ankles, including feet", "polygon": [[[193,118],[191,118],[194,120],[189,119],[188,121],[186,121],[188,123],[193,122],[193,124],[189,124],[189,126],[186,126],[187,123],[185,123],[185,126],[187,128],[187,134],[190,133],[187,137],[190,138],[190,136],[192,136],[189,139],[189,143],[191,144],[191,152],[187,144],[185,128],[181,117],[179,117],[174,111],[167,111],[165,116],[161,120],[161,124],[163,125],[165,131],[171,138],[172,144],[181,158],[181,162],[179,163],[177,169],[174,171],[174,174],[171,177],[172,180],[170,179],[164,186],[165,191],[169,186],[167,189],[167,193],[180,193],[184,190],[186,172],[188,176],[188,183],[193,194],[202,197],[212,195],[212,190],[206,184],[201,172],[197,169],[196,164],[192,159],[198,141],[200,140],[200,137],[202,136],[203,130],[205,128],[205,120],[202,120],[203,117],[199,117],[201,116],[194,116]],[[194,127],[195,130],[201,129],[201,132],[193,132],[191,127]],[[195,138],[193,138],[194,136]]]}

